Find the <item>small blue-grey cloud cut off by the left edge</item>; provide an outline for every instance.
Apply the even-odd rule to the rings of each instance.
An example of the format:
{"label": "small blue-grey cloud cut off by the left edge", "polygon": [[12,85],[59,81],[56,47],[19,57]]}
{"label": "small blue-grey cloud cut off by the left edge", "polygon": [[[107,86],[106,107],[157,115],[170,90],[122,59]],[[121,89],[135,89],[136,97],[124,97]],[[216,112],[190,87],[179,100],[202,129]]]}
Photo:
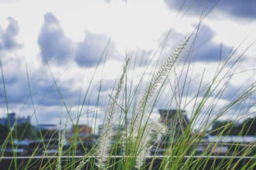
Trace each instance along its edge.
{"label": "small blue-grey cloud cut off by the left edge", "polygon": [[18,21],[9,17],[8,27],[4,30],[0,26],[0,51],[13,50],[21,48],[22,45],[17,42],[16,36],[18,36]]}

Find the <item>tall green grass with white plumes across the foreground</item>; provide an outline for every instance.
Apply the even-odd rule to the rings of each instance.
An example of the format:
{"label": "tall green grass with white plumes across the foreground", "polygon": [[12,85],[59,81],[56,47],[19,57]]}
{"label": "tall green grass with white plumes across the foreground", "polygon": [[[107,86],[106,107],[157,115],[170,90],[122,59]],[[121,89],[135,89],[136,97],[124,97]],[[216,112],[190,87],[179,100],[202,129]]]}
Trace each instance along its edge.
{"label": "tall green grass with white plumes across the foreground", "polygon": [[[240,91],[234,91],[233,98],[225,104],[218,106],[225,91],[229,89],[229,83],[235,74],[240,64],[244,59],[244,52],[238,53],[238,48],[231,51],[224,61],[220,61],[218,68],[214,70],[215,74],[211,81],[204,83],[205,73],[212,70],[204,70],[200,77],[192,77],[191,68],[192,54],[194,53],[194,42],[197,38],[197,33],[200,27],[197,27],[194,33],[189,38],[185,38],[183,42],[177,44],[174,52],[170,52],[170,56],[161,64],[162,55],[153,54],[151,60],[144,72],[142,72],[140,80],[136,85],[133,84],[135,77],[133,72],[136,72],[136,59],[133,59],[131,54],[127,54],[123,70],[121,70],[120,78],[116,81],[116,88],[112,89],[112,94],[109,96],[109,102],[105,106],[105,118],[103,129],[99,138],[93,136],[93,144],[88,150],[88,141],[84,140],[87,137],[79,136],[79,119],[84,116],[84,108],[86,101],[90,100],[90,90],[94,75],[90,80],[90,85],[86,89],[83,96],[82,88],[79,94],[79,108],[77,109],[77,117],[71,116],[71,106],[68,106],[62,97],[62,92],[58,86],[58,79],[55,79],[51,72],[51,68],[47,63],[48,69],[51,72],[53,86],[55,87],[62,99],[62,107],[66,111],[67,120],[64,126],[58,131],[57,152],[55,156],[49,156],[49,143],[44,141],[44,137],[40,131],[40,140],[43,147],[36,147],[33,154],[23,167],[18,167],[17,156],[14,152],[9,169],[32,169],[35,165],[39,169],[255,169],[256,154],[254,143],[229,143],[231,147],[224,155],[220,156],[220,152],[214,152],[217,148],[224,148],[227,143],[223,141],[229,135],[227,129],[232,129],[235,122],[246,118],[251,109],[255,106],[255,102],[250,102],[251,97],[255,94],[255,82],[246,87],[241,87]],[[188,43],[190,42],[190,43]],[[108,46],[108,45],[107,45]],[[101,61],[105,60],[106,51],[101,55]],[[164,48],[164,46],[162,47]],[[162,49],[159,49],[160,51]],[[161,54],[161,53],[160,53]],[[158,57],[158,58],[157,58]],[[183,61],[177,61],[182,57]],[[130,59],[131,58],[131,59]],[[157,59],[155,59],[157,58]],[[131,66],[130,60],[134,61],[134,66]],[[157,60],[155,62],[155,60]],[[95,72],[101,63],[99,61]],[[155,63],[154,63],[155,62]],[[1,63],[1,60],[0,60]],[[153,66],[153,74],[148,81],[144,80],[147,69]],[[105,64],[105,62],[103,62]],[[177,70],[179,66],[181,70]],[[185,75],[185,76],[184,76]],[[131,77],[129,77],[131,76]],[[6,109],[8,111],[8,93],[5,90],[4,72],[1,63],[1,77],[3,81],[3,91],[5,94]],[[188,93],[192,88],[192,83],[200,80],[197,85],[196,93],[192,98],[189,98]],[[36,116],[37,107],[34,106],[34,99],[29,82],[27,72],[27,80],[29,86],[29,98],[34,108]],[[99,94],[97,95],[97,103],[95,108],[99,108],[99,100],[101,98],[102,81],[99,85]],[[144,82],[147,82],[144,88]],[[140,91],[144,91],[140,93]],[[168,91],[166,91],[168,90]],[[165,96],[165,94],[168,95]],[[94,94],[95,95],[95,94]],[[165,98],[166,97],[166,98]],[[42,96],[43,100],[44,96]],[[177,114],[172,115],[172,119],[159,119],[153,117],[156,106],[161,105],[159,109],[177,109]],[[88,103],[89,105],[89,103]],[[183,111],[190,113],[189,122],[185,121],[182,114]],[[92,112],[94,118],[92,122],[87,122],[88,125],[96,128],[97,117],[99,110],[95,109]],[[9,113],[9,111],[8,111]],[[203,138],[207,134],[211,134],[211,126],[220,117],[228,117],[229,123],[221,127],[216,135],[216,141],[205,143],[205,149],[201,154],[197,151],[203,143]],[[185,121],[185,124],[184,124]],[[64,148],[64,139],[66,136],[67,124],[75,126],[75,133],[67,143],[69,147]],[[118,130],[114,129],[118,125]],[[63,125],[63,124],[61,124]],[[245,125],[244,125],[245,126]],[[13,132],[16,124],[10,127],[10,134],[1,145],[0,163],[3,163],[3,155],[8,143],[12,143],[12,150],[15,151],[18,145],[14,145]],[[63,132],[61,132],[63,129]],[[246,132],[243,128],[240,132]],[[94,134],[96,132],[94,131]],[[83,155],[77,157],[77,147],[81,145],[84,150]],[[155,152],[151,153],[154,149]],[[163,153],[160,154],[162,150]],[[44,151],[44,158],[36,159],[35,156],[40,155]],[[64,157],[67,156],[67,157]],[[250,156],[250,157],[248,157]]]}

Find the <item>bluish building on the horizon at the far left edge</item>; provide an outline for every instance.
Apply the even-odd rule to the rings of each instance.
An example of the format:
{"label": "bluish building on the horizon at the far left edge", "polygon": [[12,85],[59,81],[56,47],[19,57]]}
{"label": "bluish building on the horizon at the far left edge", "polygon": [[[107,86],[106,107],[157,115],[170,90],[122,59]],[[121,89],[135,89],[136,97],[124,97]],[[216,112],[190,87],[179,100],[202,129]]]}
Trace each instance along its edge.
{"label": "bluish building on the horizon at the far left edge", "polygon": [[[22,123],[25,123],[25,122],[29,122],[30,121],[30,117],[27,116],[27,117],[16,117],[16,113],[9,113],[7,115],[7,117],[5,118],[1,118],[0,119],[0,124],[4,125],[4,126],[13,126],[16,122],[16,125],[18,124],[22,124]],[[10,124],[9,124],[10,122]]]}

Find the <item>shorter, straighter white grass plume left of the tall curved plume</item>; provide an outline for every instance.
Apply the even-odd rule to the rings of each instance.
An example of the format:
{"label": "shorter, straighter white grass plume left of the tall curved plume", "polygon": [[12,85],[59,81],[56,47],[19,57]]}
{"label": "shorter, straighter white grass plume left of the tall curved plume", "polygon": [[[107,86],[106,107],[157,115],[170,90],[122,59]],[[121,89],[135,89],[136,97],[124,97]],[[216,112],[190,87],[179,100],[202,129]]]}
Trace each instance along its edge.
{"label": "shorter, straighter white grass plume left of the tall curved plume", "polygon": [[123,72],[120,76],[118,86],[116,88],[116,94],[114,98],[112,98],[112,102],[110,104],[109,109],[107,109],[105,120],[103,124],[103,129],[100,134],[99,138],[99,145],[97,147],[97,167],[99,169],[105,169],[106,165],[105,162],[108,159],[108,156],[110,154],[110,150],[112,147],[113,137],[114,137],[114,113],[116,111],[116,102],[120,95],[120,90],[122,89],[123,80],[125,77],[125,73],[127,72],[127,66],[129,63],[130,58],[127,59],[125,62],[125,65],[123,66]]}

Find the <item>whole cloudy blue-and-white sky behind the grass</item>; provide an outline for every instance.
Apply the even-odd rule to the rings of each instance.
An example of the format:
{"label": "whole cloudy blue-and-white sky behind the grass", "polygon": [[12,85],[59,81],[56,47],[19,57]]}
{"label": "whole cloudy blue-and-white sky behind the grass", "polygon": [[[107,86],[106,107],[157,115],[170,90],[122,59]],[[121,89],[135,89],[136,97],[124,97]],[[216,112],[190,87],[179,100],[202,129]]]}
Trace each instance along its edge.
{"label": "whole cloudy blue-and-white sky behind the grass", "polygon": [[[156,66],[191,33],[175,63],[179,84],[186,84],[179,96],[180,107],[190,117],[200,83],[209,85],[220,63],[233,54],[224,68],[233,75],[216,86],[217,91],[227,87],[214,105],[218,113],[255,81],[255,8],[253,0],[0,0],[1,77],[5,81],[0,81],[0,117],[8,112],[6,93],[9,112],[31,116],[34,125],[58,124],[66,109],[74,120],[82,109],[79,124],[91,124],[97,111],[97,124],[101,124],[125,57],[131,57],[127,87],[135,89],[143,75],[136,94],[140,96]],[[232,67],[240,56],[241,63]],[[168,104],[170,109],[177,107],[175,102],[166,102],[177,83],[172,76],[153,115]],[[214,93],[212,101],[218,95]],[[252,95],[246,104],[255,99]],[[256,107],[248,114],[254,111]]]}

